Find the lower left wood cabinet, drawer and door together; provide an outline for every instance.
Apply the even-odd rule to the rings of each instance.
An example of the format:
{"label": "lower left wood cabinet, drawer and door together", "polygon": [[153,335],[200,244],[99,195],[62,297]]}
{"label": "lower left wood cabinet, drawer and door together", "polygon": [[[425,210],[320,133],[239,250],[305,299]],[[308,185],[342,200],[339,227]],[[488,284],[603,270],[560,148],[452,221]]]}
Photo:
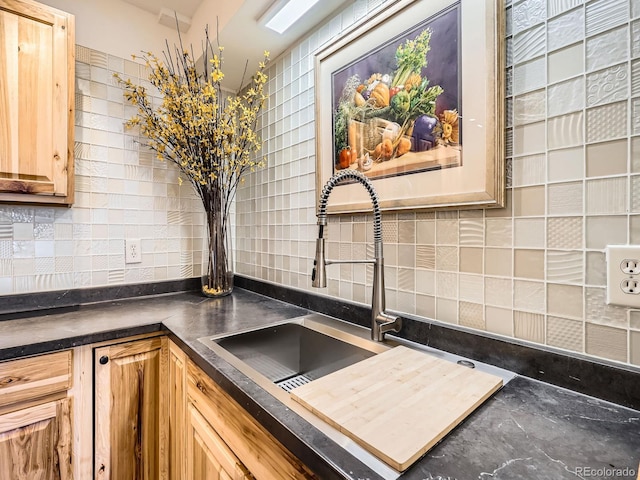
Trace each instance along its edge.
{"label": "lower left wood cabinet, drawer and door together", "polygon": [[0,363],[0,478],[72,480],[70,350]]}

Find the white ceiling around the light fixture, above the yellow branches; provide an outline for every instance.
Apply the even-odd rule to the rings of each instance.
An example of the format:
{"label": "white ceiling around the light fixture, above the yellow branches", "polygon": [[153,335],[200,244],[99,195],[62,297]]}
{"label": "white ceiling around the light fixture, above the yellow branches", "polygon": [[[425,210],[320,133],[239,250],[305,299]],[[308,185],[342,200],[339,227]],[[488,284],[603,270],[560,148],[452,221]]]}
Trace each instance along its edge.
{"label": "white ceiling around the light fixture, above the yellow branches", "polygon": [[[194,49],[200,45],[204,36],[204,25],[209,25],[210,37],[215,40],[217,21],[220,28],[220,44],[224,46],[224,86],[235,91],[243,86],[241,83],[247,83],[258,62],[262,60],[265,50],[270,52],[271,59],[275,59],[304,34],[355,0],[322,0],[283,34],[275,33],[258,22],[277,0],[125,1],[156,16],[159,16],[164,8],[190,20],[191,27],[184,36],[193,44]],[[247,61],[247,73],[241,82]]]}

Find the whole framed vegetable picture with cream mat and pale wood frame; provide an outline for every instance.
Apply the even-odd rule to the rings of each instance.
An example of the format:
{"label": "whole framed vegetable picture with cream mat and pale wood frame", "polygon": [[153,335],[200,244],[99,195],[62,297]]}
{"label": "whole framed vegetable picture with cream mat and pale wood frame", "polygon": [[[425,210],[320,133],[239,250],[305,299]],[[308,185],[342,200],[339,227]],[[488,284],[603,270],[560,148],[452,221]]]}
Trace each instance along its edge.
{"label": "whole framed vegetable picture with cream mat and pale wood frame", "polygon": [[[504,204],[503,0],[399,0],[315,58],[316,188],[383,210]],[[329,213],[366,212],[356,183]]]}

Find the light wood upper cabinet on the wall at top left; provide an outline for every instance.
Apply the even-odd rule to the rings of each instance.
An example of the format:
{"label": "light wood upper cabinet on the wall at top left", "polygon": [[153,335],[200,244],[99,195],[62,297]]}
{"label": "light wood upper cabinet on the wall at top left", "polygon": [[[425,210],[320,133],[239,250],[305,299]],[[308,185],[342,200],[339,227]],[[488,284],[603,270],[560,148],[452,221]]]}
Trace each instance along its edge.
{"label": "light wood upper cabinet on the wall at top left", "polygon": [[0,202],[73,203],[74,16],[0,0]]}

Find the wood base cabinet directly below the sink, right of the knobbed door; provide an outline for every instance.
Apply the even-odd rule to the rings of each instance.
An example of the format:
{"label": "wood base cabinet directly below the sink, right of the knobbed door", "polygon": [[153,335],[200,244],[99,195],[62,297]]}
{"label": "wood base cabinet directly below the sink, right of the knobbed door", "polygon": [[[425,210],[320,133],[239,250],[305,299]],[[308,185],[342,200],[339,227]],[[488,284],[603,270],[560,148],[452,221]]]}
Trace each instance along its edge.
{"label": "wood base cabinet directly below the sink, right of the knobbed door", "polygon": [[317,478],[184,352],[170,352],[171,480]]}

